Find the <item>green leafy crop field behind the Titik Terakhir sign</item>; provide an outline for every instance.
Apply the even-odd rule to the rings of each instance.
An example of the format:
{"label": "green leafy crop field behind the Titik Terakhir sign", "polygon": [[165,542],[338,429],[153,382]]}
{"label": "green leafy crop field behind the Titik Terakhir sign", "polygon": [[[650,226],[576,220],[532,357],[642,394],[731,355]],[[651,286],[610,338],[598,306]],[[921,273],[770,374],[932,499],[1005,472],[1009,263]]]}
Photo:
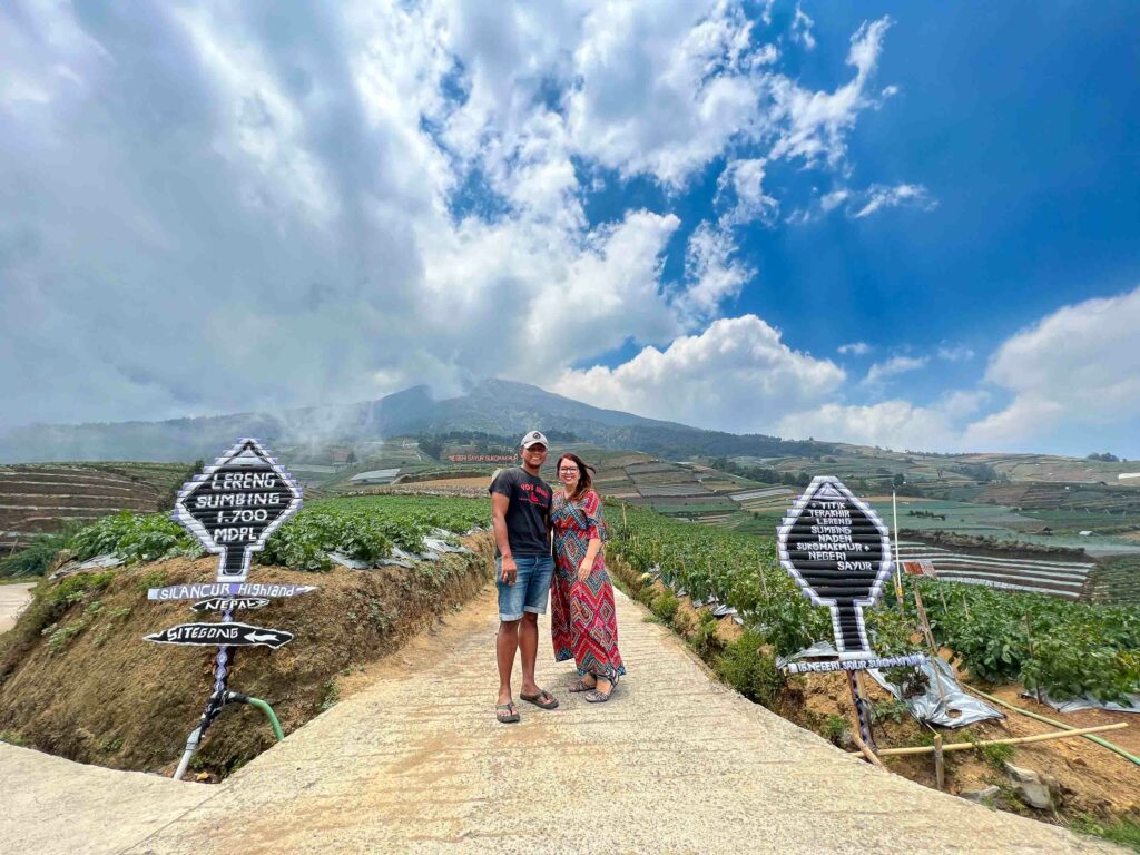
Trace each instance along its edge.
{"label": "green leafy crop field behind the Titik Terakhir sign", "polygon": [[[620,518],[613,522],[614,516]],[[652,511],[610,512],[611,552],[636,571],[698,602],[736,609],[780,656],[831,638],[826,609],[806,600],[780,567],[774,537],[677,522]],[[936,642],[972,677],[1021,683],[1056,698],[1090,694],[1121,701],[1140,691],[1140,609],[1073,603],[934,579],[907,580],[903,609],[888,591],[869,610],[876,650],[914,650],[913,591],[922,593]]]}

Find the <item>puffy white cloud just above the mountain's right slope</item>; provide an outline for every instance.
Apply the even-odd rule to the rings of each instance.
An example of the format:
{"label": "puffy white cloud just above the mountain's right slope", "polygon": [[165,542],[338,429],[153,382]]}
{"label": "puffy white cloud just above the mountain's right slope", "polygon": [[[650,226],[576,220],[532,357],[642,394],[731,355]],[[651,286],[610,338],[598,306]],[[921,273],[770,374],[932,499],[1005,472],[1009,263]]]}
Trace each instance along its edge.
{"label": "puffy white cloud just above the mountain's right slope", "polygon": [[781,414],[832,396],[846,373],[792,350],[755,315],[722,318],[614,368],[567,370],[555,389],[600,407],[726,431],[771,431]]}

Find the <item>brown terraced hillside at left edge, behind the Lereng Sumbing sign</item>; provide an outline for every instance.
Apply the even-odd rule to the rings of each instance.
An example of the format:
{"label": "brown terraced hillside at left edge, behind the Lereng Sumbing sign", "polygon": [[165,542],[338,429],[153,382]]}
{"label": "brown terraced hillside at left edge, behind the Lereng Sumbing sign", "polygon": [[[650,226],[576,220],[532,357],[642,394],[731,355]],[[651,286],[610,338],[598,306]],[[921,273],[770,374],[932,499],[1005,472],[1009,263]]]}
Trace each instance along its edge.
{"label": "brown terraced hillside at left edge, behind the Lereng Sumbing sign", "polygon": [[0,554],[70,521],[119,511],[161,511],[189,474],[181,463],[0,466]]}

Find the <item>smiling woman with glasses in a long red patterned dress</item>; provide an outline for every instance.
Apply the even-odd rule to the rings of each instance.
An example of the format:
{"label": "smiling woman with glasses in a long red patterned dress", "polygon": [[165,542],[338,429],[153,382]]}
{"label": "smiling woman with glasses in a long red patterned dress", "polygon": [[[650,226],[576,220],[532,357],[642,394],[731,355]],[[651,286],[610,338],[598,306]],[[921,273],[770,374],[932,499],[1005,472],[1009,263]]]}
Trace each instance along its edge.
{"label": "smiling woman with glasses in a long red patterned dress", "polygon": [[551,506],[554,527],[554,584],[551,586],[551,635],[554,659],[573,658],[578,682],[571,692],[586,700],[610,700],[618,677],[626,673],[618,653],[613,586],[605,572],[602,542],[606,539],[602,500],[591,489],[589,469],[575,454],[559,458],[559,481]]}

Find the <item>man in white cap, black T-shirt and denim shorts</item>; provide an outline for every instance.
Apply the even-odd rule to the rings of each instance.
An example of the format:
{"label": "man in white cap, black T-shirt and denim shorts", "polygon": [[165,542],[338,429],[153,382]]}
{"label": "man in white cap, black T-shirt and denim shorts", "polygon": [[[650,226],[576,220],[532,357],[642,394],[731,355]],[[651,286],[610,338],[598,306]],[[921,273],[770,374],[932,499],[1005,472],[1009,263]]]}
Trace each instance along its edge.
{"label": "man in white cap, black T-shirt and denim shorts", "polygon": [[547,442],[538,431],[522,438],[522,466],[500,472],[491,481],[491,520],[495,527],[495,584],[498,588],[499,632],[495,653],[499,669],[499,694],[495,717],[503,724],[519,720],[511,693],[514,653],[522,652],[520,698],[542,709],[554,709],[557,700],[535,683],[538,654],[538,616],[554,576],[551,557],[551,486],[538,472],[546,462]]}

